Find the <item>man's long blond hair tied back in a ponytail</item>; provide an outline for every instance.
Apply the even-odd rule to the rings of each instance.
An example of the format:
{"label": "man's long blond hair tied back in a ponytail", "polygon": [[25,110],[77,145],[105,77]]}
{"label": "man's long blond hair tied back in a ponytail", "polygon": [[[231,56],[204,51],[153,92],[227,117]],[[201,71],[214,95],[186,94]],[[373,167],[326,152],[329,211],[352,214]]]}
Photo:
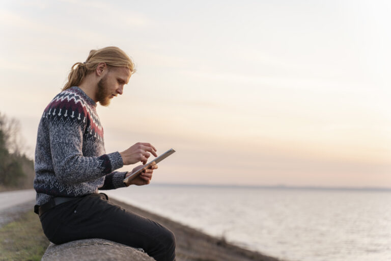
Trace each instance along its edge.
{"label": "man's long blond hair tied back in a ponytail", "polygon": [[96,70],[100,63],[106,63],[108,67],[127,67],[130,70],[130,74],[135,72],[133,61],[120,48],[108,46],[98,50],[91,50],[86,62],[77,62],[72,65],[71,72],[68,75],[68,82],[62,90],[78,86],[87,74]]}

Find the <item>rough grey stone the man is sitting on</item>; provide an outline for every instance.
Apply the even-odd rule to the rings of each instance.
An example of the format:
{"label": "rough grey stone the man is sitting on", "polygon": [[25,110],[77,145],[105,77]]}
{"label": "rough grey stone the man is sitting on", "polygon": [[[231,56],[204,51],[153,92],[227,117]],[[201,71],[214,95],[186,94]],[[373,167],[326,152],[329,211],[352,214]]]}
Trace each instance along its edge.
{"label": "rough grey stone the man is sitting on", "polygon": [[61,245],[50,243],[41,261],[154,261],[141,250],[103,239],[83,239]]}

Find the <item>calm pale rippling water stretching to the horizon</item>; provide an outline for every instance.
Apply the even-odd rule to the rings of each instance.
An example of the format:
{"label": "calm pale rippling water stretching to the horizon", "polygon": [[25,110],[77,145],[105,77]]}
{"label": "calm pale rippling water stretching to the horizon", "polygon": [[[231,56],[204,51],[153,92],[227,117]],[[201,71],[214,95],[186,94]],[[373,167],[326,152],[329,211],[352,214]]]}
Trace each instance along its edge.
{"label": "calm pale rippling water stretching to the horizon", "polygon": [[289,261],[391,260],[391,193],[149,185],[109,196]]}

